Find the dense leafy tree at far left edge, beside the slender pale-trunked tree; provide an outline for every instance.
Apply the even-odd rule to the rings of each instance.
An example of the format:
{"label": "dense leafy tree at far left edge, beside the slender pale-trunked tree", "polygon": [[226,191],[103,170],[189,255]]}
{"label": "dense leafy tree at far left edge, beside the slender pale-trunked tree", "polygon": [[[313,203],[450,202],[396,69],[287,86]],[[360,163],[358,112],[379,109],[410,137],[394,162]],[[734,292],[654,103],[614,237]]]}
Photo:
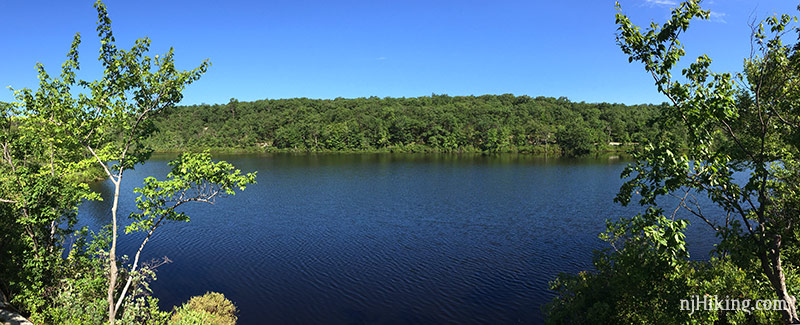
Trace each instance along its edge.
{"label": "dense leafy tree at far left edge, beside the slender pale-trunked tree", "polygon": [[[97,199],[78,173],[89,164],[36,107],[0,111],[0,284],[23,311],[46,305],[41,292],[57,281],[61,245],[77,221],[76,206]],[[7,282],[5,282],[7,281]]]}

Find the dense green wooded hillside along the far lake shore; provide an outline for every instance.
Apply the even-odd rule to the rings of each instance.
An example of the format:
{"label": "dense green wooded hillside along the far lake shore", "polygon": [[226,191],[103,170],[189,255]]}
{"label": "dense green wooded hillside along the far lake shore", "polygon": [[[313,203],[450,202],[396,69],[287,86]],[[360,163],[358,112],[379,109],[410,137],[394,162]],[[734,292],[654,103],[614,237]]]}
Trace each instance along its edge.
{"label": "dense green wooded hillside along the far lake shore", "polygon": [[[178,106],[154,120],[158,151],[554,152],[646,142],[662,105],[529,96],[277,99]],[[673,132],[682,137],[681,132]],[[679,139],[680,140],[680,139]],[[609,145],[613,143],[613,145]]]}

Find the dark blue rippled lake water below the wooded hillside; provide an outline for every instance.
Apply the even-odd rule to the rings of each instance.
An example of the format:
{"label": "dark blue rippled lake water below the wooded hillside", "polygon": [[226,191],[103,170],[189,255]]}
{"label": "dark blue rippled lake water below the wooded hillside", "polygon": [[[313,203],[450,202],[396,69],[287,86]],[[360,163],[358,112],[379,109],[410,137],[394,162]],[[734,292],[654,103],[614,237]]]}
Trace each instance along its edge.
{"label": "dark blue rippled lake water below the wooded hillside", "polygon": [[[541,323],[560,272],[591,268],[626,162],[616,157],[337,154],[218,156],[258,184],[215,205],[186,206],[189,223],[159,228],[143,259],[167,256],[162,308],[206,291],[239,307],[241,324]],[[132,189],[163,179],[169,157],[126,172]],[[94,184],[110,197],[110,182]],[[110,220],[88,202],[81,223]],[[121,219],[122,224],[129,223]],[[713,238],[699,223],[690,252]],[[132,256],[140,236],[122,235]]]}

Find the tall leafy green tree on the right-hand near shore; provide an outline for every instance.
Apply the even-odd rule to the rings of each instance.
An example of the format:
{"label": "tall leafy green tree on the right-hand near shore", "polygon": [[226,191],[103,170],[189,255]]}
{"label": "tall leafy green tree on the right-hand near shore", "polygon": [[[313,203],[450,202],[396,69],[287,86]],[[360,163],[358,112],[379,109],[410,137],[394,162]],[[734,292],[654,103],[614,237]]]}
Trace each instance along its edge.
{"label": "tall leafy green tree on the right-hand near shore", "polygon": [[[645,284],[640,288],[645,293],[654,292],[649,288],[666,288],[661,287],[662,280],[678,280],[674,282],[677,287],[654,293],[658,299],[645,299],[666,299],[672,301],[671,305],[617,306],[612,312],[616,319],[660,323],[662,317],[672,314],[666,319],[698,323],[774,321],[768,314],[739,319],[740,314],[724,311],[690,319],[667,310],[678,308],[679,297],[675,293],[703,290],[694,294],[738,292],[756,295],[743,298],[777,298],[785,304],[779,312],[783,322],[799,323],[795,294],[800,247],[795,226],[800,221],[800,110],[796,105],[800,99],[800,48],[783,43],[783,36],[798,31],[789,25],[796,18],[776,15],[754,26],[754,55],[745,60],[743,73],[713,73],[711,59],[702,55],[682,69],[683,78],[676,80],[672,72],[685,54],[680,34],[692,19],[708,17],[709,11],[702,10],[697,1],[681,3],[666,23],[653,23],[644,31],[621,11],[616,16],[622,51],[631,62],[644,65],[657,89],[669,99],[672,106],[666,117],[686,127],[688,147],[682,150],[674,141],[662,138],[635,154],[636,163],[623,172],[628,180],[615,200],[627,205],[638,195],[646,212],[609,224],[603,238],[616,243],[618,250],[601,257],[596,265],[605,274],[656,271],[658,276],[649,280],[637,282],[638,278],[633,277],[629,282]],[[719,259],[688,261],[683,236],[686,220],[676,218],[675,213],[665,215],[659,204],[663,202],[659,198],[664,196],[676,197],[678,209],[716,232],[720,238],[715,251]],[[710,215],[708,206],[697,196],[708,197],[710,204],[724,212]],[[639,261],[633,262],[636,259]],[[652,267],[655,261],[662,261],[658,263],[661,267]],[[709,271],[707,266],[717,270]],[[589,281],[571,279],[571,283],[556,285],[562,295],[555,303],[557,307],[551,309],[551,316],[564,311],[559,304],[577,303],[575,296],[569,295],[584,292],[585,298],[587,291],[581,288],[603,286],[593,276],[586,277]],[[626,295],[640,296],[623,292],[614,297],[622,299]],[[626,313],[624,309],[631,306],[632,313]],[[648,307],[662,308],[662,312],[653,315],[653,309],[648,311]],[[623,314],[650,316],[637,320]]]}

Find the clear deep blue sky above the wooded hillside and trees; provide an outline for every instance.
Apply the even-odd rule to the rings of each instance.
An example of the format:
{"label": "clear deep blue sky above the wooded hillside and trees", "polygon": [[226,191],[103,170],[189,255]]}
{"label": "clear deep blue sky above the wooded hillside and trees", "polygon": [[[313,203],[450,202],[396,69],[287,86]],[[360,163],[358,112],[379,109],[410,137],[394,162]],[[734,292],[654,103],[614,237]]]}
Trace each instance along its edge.
{"label": "clear deep blue sky above the wooded hillside and trees", "polygon": [[[677,1],[677,0],[676,0]],[[92,1],[0,1],[0,86],[36,86],[36,62],[57,74],[80,32],[82,72],[99,76]],[[672,0],[621,0],[635,23],[663,22]],[[615,44],[614,1],[107,1],[120,47],[149,36],[152,55],[213,66],[184,104],[230,98],[414,97],[513,93],[574,101],[664,98]],[[711,21],[685,35],[687,58],[718,71],[749,55],[748,21],[796,14],[791,1],[706,0]],[[692,61],[689,59],[686,61]],[[0,89],[0,101],[12,101]]]}

